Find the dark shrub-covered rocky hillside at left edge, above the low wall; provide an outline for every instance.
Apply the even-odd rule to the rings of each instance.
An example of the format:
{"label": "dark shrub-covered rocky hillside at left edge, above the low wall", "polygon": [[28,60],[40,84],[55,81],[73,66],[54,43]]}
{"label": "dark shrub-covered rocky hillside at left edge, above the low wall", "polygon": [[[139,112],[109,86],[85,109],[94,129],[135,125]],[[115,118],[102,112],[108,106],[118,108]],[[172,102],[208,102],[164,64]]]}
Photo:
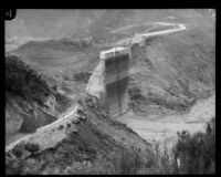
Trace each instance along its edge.
{"label": "dark shrub-covered rocky hillside at left edge, above the low wall", "polygon": [[6,56],[6,136],[33,133],[56,119],[71,101],[17,55]]}

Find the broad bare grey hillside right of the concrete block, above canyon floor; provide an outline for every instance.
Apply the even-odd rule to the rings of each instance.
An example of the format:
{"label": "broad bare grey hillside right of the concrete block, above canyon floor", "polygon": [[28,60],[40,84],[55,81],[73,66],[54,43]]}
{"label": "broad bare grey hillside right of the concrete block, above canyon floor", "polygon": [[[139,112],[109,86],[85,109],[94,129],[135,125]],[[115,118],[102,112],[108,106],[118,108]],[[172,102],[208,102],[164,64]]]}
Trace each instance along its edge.
{"label": "broad bare grey hillside right of the concrete block, above canyon floor", "polygon": [[146,46],[133,51],[129,95],[135,112],[181,113],[214,92],[214,42],[199,28],[147,39]]}

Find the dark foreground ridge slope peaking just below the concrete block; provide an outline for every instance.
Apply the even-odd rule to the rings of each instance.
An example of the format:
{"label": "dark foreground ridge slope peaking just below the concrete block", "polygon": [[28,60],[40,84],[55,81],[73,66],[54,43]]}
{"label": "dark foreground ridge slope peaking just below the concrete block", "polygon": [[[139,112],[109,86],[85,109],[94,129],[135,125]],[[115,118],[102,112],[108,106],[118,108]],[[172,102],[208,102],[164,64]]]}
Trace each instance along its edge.
{"label": "dark foreground ridge slope peaking just below the concrete block", "polygon": [[[78,115],[81,114],[84,118],[80,117],[78,122],[72,121],[50,133],[52,137],[49,142],[54,136],[59,138],[62,132],[66,133],[64,139],[46,149],[42,147],[49,142],[43,143],[40,139],[18,144],[7,153],[7,174],[62,175],[70,168],[73,170],[72,174],[75,174],[80,169],[74,166],[80,166],[84,174],[86,171],[101,174],[113,168],[115,164],[110,159],[114,156],[119,158],[124,152],[133,154],[133,149],[139,150],[138,156],[144,164],[147,166],[151,164],[152,147],[150,144],[124,124],[106,116],[101,106],[90,96],[80,101],[78,104],[82,107]],[[75,128],[69,131],[71,126]],[[46,132],[42,135],[48,136]],[[104,163],[110,164],[101,168],[104,167]]]}

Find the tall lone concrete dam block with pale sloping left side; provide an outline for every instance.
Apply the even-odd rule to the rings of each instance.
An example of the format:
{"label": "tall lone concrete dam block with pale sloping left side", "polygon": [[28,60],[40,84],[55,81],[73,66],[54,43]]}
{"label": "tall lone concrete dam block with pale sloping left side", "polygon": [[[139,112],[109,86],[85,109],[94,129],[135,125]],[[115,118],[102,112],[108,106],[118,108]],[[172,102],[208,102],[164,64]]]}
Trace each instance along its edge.
{"label": "tall lone concrete dam block with pale sloping left side", "polygon": [[106,104],[108,115],[116,117],[128,110],[129,51],[114,48],[99,54],[99,63],[90,77],[87,94]]}

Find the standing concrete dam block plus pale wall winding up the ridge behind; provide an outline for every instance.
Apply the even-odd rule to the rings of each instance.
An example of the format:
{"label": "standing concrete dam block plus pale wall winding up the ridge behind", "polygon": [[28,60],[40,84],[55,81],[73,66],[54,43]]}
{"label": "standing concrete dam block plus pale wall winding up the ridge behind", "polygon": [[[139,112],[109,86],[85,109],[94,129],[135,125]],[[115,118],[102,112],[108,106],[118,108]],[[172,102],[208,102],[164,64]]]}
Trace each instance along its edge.
{"label": "standing concrete dam block plus pale wall winding up the ridge behind", "polygon": [[[99,64],[94,70],[86,86],[86,92],[93,98],[106,105],[109,116],[116,117],[125,113],[127,105],[127,84],[129,59],[139,54],[139,50],[146,45],[147,39],[168,35],[186,30],[181,23],[156,22],[160,25],[170,25],[171,29],[136,34],[128,48],[113,48],[99,53]],[[130,65],[136,61],[130,60]]]}

